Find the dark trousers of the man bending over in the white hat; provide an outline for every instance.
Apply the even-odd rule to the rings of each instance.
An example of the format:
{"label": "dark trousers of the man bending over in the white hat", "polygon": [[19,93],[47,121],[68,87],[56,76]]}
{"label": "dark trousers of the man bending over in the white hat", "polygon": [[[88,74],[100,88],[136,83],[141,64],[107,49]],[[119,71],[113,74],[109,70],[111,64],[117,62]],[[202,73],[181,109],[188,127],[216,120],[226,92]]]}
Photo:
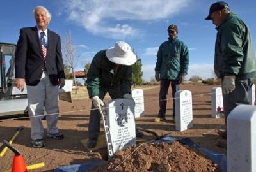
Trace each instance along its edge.
{"label": "dark trousers of the man bending over in the white hat", "polygon": [[[118,99],[122,98],[123,96],[121,95],[120,87],[111,87],[111,88],[106,88],[106,87],[100,87],[100,93],[99,93],[99,98],[104,99],[106,96],[107,92],[109,93],[109,96],[111,99]],[[100,133],[100,118],[101,115],[99,113],[99,110],[92,110],[95,109],[95,106],[91,106],[91,111],[90,111],[90,122],[89,122],[89,138],[98,138],[99,133]]]}

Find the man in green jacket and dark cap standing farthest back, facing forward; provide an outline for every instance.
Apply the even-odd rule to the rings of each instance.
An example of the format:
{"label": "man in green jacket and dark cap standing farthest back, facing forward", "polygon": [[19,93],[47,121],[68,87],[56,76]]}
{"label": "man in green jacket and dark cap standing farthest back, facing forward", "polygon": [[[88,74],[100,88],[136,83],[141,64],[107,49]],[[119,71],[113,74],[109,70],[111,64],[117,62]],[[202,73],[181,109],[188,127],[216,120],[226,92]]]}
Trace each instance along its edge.
{"label": "man in green jacket and dark cap standing farthest back, facing forward", "polygon": [[[160,81],[159,113],[155,121],[164,121],[166,113],[166,95],[171,83],[172,98],[176,92],[176,86],[184,81],[188,74],[189,52],[188,47],[177,38],[178,28],[169,25],[168,41],[162,43],[157,52],[155,78]],[[173,99],[173,120],[175,120],[175,101]]]}

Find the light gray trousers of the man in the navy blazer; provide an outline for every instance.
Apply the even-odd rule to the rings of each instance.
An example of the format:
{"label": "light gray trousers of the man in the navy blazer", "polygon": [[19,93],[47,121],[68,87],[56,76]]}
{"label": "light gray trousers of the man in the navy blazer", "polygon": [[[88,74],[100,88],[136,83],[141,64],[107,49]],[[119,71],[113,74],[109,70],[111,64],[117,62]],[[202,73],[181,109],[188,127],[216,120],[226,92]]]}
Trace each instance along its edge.
{"label": "light gray trousers of the man in the navy blazer", "polygon": [[36,117],[38,115],[44,115],[44,106],[47,114],[56,113],[56,115],[46,116],[48,133],[54,134],[58,132],[56,127],[58,121],[58,85],[52,85],[49,80],[49,76],[44,71],[42,78],[38,85],[28,86],[28,114],[31,117],[31,138],[42,139],[44,137],[44,126],[42,124],[42,118]]}

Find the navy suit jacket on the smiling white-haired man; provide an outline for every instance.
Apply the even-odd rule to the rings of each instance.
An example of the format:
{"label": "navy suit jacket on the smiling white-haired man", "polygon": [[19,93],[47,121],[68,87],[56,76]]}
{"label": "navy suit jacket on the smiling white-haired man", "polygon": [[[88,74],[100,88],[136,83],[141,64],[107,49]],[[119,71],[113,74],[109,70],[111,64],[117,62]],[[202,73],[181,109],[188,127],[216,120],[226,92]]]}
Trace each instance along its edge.
{"label": "navy suit jacket on the smiling white-haired man", "polygon": [[37,85],[44,69],[52,85],[58,85],[59,79],[65,78],[60,36],[48,29],[47,39],[44,61],[37,27],[20,29],[15,53],[15,78],[25,78],[26,85]]}

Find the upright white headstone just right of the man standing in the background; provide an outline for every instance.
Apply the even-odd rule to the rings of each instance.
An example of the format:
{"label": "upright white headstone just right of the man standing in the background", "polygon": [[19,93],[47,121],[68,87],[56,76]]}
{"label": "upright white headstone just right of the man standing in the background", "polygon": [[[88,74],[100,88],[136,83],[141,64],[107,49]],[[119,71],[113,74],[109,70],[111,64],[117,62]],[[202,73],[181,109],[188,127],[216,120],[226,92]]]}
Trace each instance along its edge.
{"label": "upright white headstone just right of the man standing in the background", "polygon": [[192,94],[189,90],[175,93],[175,123],[177,131],[193,127]]}

